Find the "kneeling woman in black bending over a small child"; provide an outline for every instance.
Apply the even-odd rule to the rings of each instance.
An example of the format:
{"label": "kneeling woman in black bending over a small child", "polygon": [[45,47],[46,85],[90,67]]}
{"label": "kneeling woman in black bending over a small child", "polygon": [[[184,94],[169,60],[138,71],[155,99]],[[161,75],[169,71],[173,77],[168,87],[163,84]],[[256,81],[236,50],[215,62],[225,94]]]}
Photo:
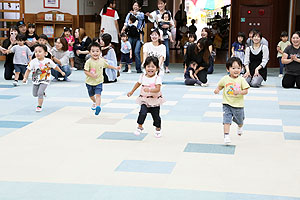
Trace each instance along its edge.
{"label": "kneeling woman in black bending over a small child", "polygon": [[[209,67],[209,48],[207,38],[201,38],[197,44],[191,44],[185,54],[186,66],[190,66],[192,61],[197,63],[195,74],[202,83],[207,83],[207,69]],[[186,68],[184,69],[186,71]]]}

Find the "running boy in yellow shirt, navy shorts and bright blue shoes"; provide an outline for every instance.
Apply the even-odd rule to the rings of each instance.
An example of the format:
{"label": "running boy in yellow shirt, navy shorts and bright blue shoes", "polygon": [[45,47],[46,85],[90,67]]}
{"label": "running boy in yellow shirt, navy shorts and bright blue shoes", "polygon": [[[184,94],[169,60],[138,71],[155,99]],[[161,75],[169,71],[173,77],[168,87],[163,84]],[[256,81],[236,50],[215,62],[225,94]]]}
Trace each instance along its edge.
{"label": "running boy in yellow shirt, navy shorts and bright blue shoes", "polygon": [[89,52],[91,57],[84,65],[85,83],[89,97],[93,101],[92,110],[95,110],[95,115],[99,115],[101,111],[102,83],[104,81],[103,68],[119,70],[120,67],[108,65],[104,58],[100,58],[101,47],[96,42],[89,46]]}

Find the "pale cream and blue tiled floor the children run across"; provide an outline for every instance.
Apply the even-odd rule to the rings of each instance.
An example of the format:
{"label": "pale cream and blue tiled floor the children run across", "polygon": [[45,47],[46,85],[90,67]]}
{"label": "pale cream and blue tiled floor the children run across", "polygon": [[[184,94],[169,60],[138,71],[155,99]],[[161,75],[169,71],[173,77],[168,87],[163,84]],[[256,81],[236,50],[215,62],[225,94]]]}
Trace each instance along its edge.
{"label": "pale cream and blue tiled floor the children run across", "polygon": [[300,91],[282,89],[270,69],[245,98],[244,135],[233,125],[225,146],[213,94],[224,65],[207,88],[183,85],[180,64],[170,69],[155,138],[150,115],[145,133],[132,134],[136,73],[104,85],[99,116],[82,71],[51,83],[36,113],[32,84],[12,87],[0,63],[0,200],[300,200]]}

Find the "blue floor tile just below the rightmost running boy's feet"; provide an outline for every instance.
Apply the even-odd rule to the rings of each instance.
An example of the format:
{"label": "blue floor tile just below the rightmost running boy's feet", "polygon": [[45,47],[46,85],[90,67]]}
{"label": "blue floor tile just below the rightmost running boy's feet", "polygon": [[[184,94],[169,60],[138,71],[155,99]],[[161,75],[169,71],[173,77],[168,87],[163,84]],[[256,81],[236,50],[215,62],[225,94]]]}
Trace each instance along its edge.
{"label": "blue floor tile just below the rightmost running boy's feet", "polygon": [[184,152],[234,154],[235,145],[188,143]]}

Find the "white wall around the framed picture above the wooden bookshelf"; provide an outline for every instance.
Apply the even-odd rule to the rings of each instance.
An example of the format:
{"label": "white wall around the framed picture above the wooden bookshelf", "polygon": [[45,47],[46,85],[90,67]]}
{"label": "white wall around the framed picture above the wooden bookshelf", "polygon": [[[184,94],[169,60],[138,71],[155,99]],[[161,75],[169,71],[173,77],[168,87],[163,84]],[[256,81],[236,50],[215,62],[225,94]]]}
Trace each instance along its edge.
{"label": "white wall around the framed picture above the wooden bookshelf", "polygon": [[24,0],[25,1],[25,13],[39,13],[48,12],[50,10],[58,10],[60,12],[70,13],[77,15],[77,0],[60,0],[60,8],[44,8],[44,0]]}

